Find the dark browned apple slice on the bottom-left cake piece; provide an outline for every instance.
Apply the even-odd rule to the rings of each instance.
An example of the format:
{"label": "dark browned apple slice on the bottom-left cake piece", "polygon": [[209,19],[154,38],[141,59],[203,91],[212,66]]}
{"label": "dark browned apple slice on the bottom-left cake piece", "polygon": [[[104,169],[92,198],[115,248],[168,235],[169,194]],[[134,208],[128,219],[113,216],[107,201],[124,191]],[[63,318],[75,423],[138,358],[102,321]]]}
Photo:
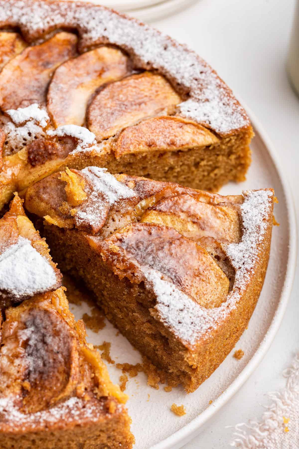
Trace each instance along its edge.
{"label": "dark browned apple slice on the bottom-left cake piece", "polygon": [[[56,293],[44,296],[51,298],[52,295],[58,296]],[[42,410],[74,389],[79,376],[77,341],[67,322],[47,304],[45,297],[43,302],[26,301],[6,310],[3,344],[4,348],[17,349],[11,356],[14,356],[14,364],[23,368],[21,376],[17,372],[11,379],[15,386],[20,383],[21,389],[25,383],[23,413]],[[6,372],[10,366],[7,357],[2,351],[4,383],[11,374]]]}

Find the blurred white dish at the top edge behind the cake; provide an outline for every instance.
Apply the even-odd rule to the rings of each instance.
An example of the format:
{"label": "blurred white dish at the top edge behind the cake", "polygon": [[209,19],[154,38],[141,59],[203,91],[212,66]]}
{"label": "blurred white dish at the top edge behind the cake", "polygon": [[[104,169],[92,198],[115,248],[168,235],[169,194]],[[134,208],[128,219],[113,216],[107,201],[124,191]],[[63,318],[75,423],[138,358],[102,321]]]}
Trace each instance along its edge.
{"label": "blurred white dish at the top edge behind the cake", "polygon": [[161,19],[186,9],[197,0],[81,0],[89,3],[101,4],[130,14],[144,22]]}

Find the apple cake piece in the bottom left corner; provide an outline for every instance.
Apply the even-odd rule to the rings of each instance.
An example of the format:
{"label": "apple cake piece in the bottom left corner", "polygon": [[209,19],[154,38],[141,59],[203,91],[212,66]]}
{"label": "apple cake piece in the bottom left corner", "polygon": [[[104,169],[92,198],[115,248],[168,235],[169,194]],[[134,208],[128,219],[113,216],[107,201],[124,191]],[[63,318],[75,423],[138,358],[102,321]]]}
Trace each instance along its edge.
{"label": "apple cake piece in the bottom left corner", "polygon": [[60,284],[16,196],[0,220],[0,448],[130,449],[127,396]]}

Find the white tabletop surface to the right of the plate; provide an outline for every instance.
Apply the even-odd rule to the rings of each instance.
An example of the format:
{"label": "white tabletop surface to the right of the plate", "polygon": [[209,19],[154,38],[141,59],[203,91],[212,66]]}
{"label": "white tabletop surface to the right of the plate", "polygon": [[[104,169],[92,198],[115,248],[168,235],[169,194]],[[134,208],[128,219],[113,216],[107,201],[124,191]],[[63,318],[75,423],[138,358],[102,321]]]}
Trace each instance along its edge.
{"label": "white tabletop surface to the right of the plate", "polygon": [[[201,0],[154,25],[210,62],[257,115],[277,149],[294,194],[298,220],[299,99],[285,71],[294,6],[292,0]],[[225,427],[259,418],[264,411],[260,404],[269,404],[264,394],[285,385],[282,370],[299,350],[298,289],[297,264],[282,326],[264,360],[184,449],[229,448],[232,429]]]}

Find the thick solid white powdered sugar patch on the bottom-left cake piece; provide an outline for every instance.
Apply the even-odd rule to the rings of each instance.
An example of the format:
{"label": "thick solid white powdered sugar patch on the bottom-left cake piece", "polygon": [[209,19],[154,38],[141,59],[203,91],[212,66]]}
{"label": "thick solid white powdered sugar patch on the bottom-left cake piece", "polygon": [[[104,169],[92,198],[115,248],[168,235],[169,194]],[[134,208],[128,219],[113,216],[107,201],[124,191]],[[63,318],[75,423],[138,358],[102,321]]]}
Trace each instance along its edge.
{"label": "thick solid white powdered sugar patch on the bottom-left cake piece", "polygon": [[53,289],[56,273],[30,241],[22,236],[0,255],[0,291],[3,296],[24,299]]}

